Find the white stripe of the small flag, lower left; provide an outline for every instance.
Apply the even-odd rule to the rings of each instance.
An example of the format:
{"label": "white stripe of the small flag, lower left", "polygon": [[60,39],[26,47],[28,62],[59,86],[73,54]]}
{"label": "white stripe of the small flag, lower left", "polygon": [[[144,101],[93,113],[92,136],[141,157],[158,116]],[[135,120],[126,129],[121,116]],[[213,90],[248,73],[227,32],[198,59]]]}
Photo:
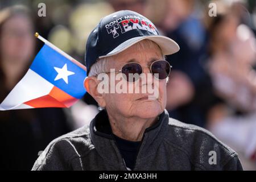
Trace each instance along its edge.
{"label": "white stripe of the small flag, lower left", "polygon": [[13,90],[0,104],[0,110],[28,109],[24,102],[46,96],[51,92],[53,85],[38,73],[28,69],[26,75],[18,82]]}

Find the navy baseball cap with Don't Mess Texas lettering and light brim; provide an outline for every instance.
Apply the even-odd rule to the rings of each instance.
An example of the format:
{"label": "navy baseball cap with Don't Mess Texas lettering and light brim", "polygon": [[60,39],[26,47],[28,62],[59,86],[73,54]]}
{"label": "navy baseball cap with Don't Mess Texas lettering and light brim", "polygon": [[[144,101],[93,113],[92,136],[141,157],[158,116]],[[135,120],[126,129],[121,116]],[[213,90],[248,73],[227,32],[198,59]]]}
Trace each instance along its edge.
{"label": "navy baseball cap with Don't Mess Texas lettering and light brim", "polygon": [[180,49],[174,40],[159,35],[154,24],[141,14],[122,10],[105,16],[90,33],[86,43],[87,72],[98,59],[116,55],[144,39],[158,44],[164,55],[171,55]]}

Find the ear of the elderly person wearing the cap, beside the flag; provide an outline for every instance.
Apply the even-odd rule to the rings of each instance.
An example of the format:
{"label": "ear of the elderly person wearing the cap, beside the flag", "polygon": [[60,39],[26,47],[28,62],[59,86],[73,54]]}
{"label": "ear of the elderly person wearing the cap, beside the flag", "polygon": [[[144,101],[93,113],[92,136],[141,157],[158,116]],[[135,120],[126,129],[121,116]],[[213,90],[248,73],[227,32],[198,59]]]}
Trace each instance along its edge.
{"label": "ear of the elderly person wearing the cap, beside the flag", "polygon": [[84,87],[86,92],[88,92],[94,98],[94,100],[98,102],[99,106],[105,107],[105,98],[102,93],[98,92],[98,83],[99,81],[96,77],[86,77],[84,80]]}

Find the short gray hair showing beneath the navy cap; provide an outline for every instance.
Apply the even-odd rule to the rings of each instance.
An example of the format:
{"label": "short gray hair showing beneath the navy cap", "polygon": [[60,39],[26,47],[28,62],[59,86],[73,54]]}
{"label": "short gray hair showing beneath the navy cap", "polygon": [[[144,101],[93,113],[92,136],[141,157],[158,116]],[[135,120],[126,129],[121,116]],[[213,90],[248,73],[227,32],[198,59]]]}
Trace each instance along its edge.
{"label": "short gray hair showing beneath the navy cap", "polygon": [[[152,40],[144,39],[136,44],[133,45],[135,49],[144,49],[144,48],[154,48],[155,46],[158,46],[155,42]],[[162,49],[158,46],[159,50],[161,51],[161,54],[163,56],[163,59],[165,56],[163,55]],[[108,61],[110,59],[113,59],[113,56],[109,57],[102,57],[101,59],[98,59],[96,63],[90,67],[90,71],[88,73],[88,76],[97,76],[100,73],[106,73],[109,72],[108,70]]]}

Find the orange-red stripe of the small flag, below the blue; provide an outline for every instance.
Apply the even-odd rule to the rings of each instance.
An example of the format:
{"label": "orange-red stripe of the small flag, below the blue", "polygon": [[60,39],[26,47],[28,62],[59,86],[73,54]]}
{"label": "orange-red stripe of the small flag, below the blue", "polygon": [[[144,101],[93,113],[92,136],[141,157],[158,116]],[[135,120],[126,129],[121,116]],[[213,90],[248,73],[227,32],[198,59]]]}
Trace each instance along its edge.
{"label": "orange-red stripe of the small flag, below the blue", "polygon": [[75,104],[75,102],[77,101],[77,98],[70,96],[69,94],[63,92],[63,90],[60,90],[56,86],[53,86],[51,92],[48,95],[24,102],[24,104],[35,108],[69,107]]}

